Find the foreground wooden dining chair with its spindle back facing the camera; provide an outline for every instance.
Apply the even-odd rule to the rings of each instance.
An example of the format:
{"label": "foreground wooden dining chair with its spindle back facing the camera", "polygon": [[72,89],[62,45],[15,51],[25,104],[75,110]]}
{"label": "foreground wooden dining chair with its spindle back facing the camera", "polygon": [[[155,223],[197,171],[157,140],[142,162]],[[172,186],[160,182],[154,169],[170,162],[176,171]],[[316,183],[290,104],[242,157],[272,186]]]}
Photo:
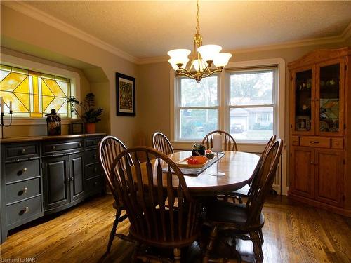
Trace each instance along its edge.
{"label": "foreground wooden dining chair with its spindle back facing the camera", "polygon": [[[126,162],[128,154],[134,166]],[[141,158],[146,162],[140,163]],[[176,163],[150,147],[135,147],[119,154],[112,173],[114,191],[122,199],[131,222],[129,234],[136,244],[133,262],[137,259],[164,262],[143,254],[140,245],[147,245],[172,248],[174,262],[179,263],[180,248],[191,245],[199,237],[201,203],[192,198]]]}

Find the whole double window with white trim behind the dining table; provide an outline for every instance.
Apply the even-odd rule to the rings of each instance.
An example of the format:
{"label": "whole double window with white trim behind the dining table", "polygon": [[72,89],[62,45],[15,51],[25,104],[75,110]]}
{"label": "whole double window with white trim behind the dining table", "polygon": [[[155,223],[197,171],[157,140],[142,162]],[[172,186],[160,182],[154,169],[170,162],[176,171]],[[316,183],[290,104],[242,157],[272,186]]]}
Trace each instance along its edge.
{"label": "whole double window with white trim behind the dining table", "polygon": [[[282,133],[284,114],[279,112],[277,97],[284,97],[278,90],[279,79],[284,80],[284,71],[279,70],[284,63],[272,60],[277,64],[232,63],[232,67],[201,79],[199,84],[176,76],[171,96],[171,140],[199,142],[213,130],[226,130],[239,143],[261,144]],[[244,63],[246,67],[241,67]]]}

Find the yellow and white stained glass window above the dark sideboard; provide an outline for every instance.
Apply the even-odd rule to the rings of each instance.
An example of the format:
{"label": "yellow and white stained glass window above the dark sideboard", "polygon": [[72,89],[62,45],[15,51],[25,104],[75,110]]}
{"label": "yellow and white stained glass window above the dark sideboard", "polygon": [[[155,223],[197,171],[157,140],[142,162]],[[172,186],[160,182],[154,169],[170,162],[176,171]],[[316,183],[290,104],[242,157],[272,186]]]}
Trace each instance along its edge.
{"label": "yellow and white stained glass window above the dark sideboard", "polygon": [[9,112],[9,102],[15,117],[42,118],[55,109],[62,118],[70,118],[71,95],[69,79],[27,69],[0,67],[0,97],[4,112]]}

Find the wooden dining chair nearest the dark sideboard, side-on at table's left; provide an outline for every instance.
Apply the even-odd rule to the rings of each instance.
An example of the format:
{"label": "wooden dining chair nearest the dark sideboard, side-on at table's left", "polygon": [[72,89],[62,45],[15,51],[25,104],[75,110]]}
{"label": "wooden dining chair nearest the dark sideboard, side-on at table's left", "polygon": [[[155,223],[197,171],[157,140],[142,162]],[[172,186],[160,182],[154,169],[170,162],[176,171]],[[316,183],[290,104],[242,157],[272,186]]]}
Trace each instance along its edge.
{"label": "wooden dining chair nearest the dark sideboard, side-on at table's left", "polygon": [[[116,236],[116,229],[117,225],[119,222],[122,222],[127,218],[127,215],[124,214],[121,216],[121,212],[124,210],[124,205],[121,202],[121,199],[117,195],[116,191],[113,191],[113,185],[112,185],[112,180],[111,180],[111,167],[114,159],[122,152],[125,151],[126,145],[124,145],[121,140],[119,140],[117,137],[114,136],[105,136],[103,137],[98,145],[98,156],[99,156],[99,161],[102,166],[102,170],[105,175],[105,180],[107,182],[107,185],[109,186],[112,195],[114,196],[114,203],[113,207],[116,209],[116,217],[114,219],[114,222],[112,224],[112,229],[110,232],[110,238],[109,242],[107,244],[107,250],[106,252],[110,252],[112,241],[114,240],[114,236]],[[128,161],[130,163],[133,163],[131,160],[131,157],[129,156]]]}

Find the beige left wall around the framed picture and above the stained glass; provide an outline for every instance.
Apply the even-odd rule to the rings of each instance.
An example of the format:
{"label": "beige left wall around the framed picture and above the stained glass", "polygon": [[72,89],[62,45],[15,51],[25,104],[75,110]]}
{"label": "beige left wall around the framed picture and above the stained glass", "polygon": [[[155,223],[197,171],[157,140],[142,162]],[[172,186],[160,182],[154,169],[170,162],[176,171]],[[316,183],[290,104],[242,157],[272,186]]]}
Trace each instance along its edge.
{"label": "beige left wall around the framed picture and above the stained glass", "polygon": [[[60,62],[64,65],[74,65],[74,67],[77,66],[81,69],[87,67],[86,65],[101,68],[107,76],[107,81],[100,82],[101,84],[89,82],[88,88],[91,88],[91,91],[95,93],[98,102],[104,102],[103,107],[106,115],[104,121],[98,123],[98,130],[105,130],[107,133],[116,135],[128,145],[138,141],[139,118],[117,117],[115,113],[114,74],[121,72],[128,76],[136,76],[137,67],[135,64],[43,22],[29,18],[7,6],[1,6],[1,47]],[[139,90],[138,86],[137,90]],[[28,135],[37,135],[35,134],[37,130],[29,129],[29,127],[23,128],[27,130]]]}

